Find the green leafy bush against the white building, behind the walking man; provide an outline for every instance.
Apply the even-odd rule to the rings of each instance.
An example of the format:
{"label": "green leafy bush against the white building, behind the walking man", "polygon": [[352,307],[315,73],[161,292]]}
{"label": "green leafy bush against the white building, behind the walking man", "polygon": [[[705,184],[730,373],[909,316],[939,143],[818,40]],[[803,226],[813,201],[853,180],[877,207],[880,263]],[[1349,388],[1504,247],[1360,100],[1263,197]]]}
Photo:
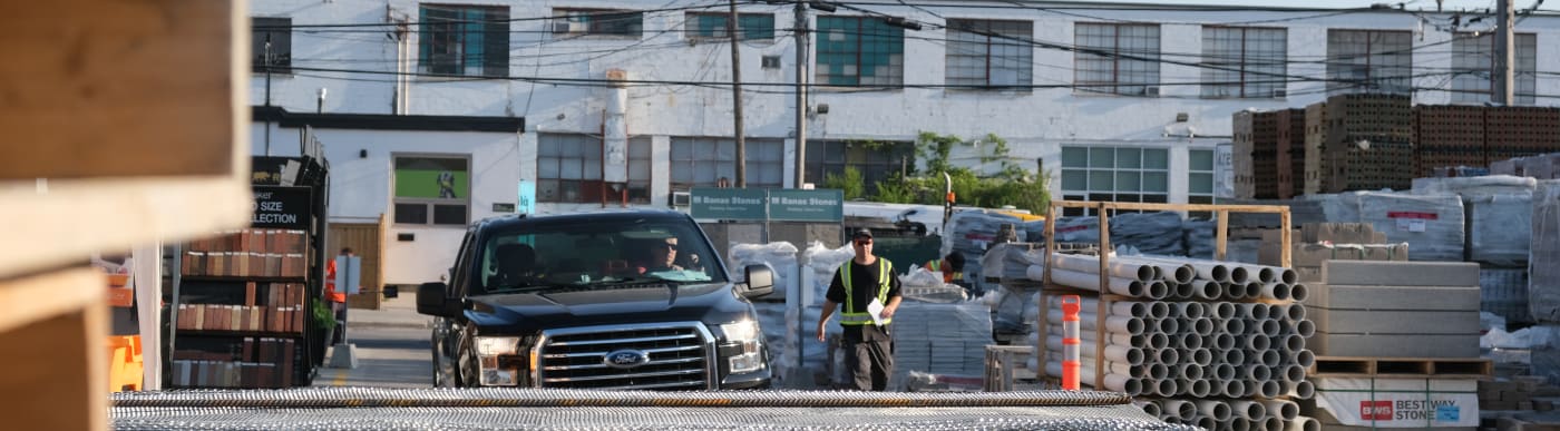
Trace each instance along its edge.
{"label": "green leafy bush against the white building, behind the walking man", "polygon": [[[986,134],[980,141],[981,164],[998,164],[995,173],[980,175],[970,167],[953,166],[952,153],[959,145],[973,145],[972,141],[952,134],[920,133],[916,139],[916,155],[925,161],[925,172],[908,176],[895,176],[877,183],[877,194],[870,198],[886,203],[920,203],[942,205],[944,173],[953,184],[958,205],[1000,208],[1011,205],[1044,214],[1050,205],[1050,175],[1045,172],[1026,172],[1008,158],[1008,141]],[[850,172],[847,170],[847,176]],[[830,187],[847,191],[846,186],[825,180]],[[860,184],[860,183],[855,183]],[[860,187],[860,186],[858,186]]]}

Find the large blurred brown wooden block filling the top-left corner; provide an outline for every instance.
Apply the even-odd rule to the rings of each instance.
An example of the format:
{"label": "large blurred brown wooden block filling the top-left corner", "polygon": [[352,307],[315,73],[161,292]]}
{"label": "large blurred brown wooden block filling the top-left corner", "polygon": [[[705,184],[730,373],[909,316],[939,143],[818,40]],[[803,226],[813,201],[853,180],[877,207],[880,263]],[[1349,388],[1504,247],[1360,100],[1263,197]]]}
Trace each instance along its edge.
{"label": "large blurred brown wooden block filling the top-left corner", "polygon": [[245,3],[9,2],[0,180],[246,169]]}

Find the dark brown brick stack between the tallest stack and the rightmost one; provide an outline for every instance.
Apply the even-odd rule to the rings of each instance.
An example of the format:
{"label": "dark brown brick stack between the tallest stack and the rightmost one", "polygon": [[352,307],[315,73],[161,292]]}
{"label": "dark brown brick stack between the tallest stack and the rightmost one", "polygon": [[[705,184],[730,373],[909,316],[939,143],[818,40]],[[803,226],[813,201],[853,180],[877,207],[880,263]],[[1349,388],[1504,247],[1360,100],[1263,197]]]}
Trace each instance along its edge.
{"label": "dark brown brick stack between the tallest stack and the rightmost one", "polygon": [[1437,169],[1482,167],[1485,155],[1485,106],[1413,106],[1415,175],[1437,176]]}

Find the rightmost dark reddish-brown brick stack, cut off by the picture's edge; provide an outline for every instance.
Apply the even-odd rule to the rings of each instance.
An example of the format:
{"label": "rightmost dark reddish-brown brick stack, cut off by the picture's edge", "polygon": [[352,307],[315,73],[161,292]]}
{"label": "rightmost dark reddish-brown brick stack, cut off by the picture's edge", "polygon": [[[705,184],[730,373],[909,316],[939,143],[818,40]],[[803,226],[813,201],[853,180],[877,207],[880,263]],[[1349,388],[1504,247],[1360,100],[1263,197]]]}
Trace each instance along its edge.
{"label": "rightmost dark reddish-brown brick stack, cut off by the picture's edge", "polygon": [[1560,108],[1501,106],[1487,109],[1485,148],[1488,159],[1504,161],[1560,150]]}

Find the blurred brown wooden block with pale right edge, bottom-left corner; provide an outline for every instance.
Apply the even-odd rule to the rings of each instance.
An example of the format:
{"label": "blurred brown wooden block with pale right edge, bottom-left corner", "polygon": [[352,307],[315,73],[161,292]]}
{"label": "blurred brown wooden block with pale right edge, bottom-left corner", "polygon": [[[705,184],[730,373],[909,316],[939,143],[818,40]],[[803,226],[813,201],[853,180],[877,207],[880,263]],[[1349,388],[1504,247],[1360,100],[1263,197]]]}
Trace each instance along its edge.
{"label": "blurred brown wooden block with pale right edge, bottom-left corner", "polygon": [[[101,292],[103,278],[90,272],[72,269],[39,278],[55,280],[48,284],[59,290]],[[0,331],[0,345],[6,347],[6,354],[0,354],[0,370],[6,370],[0,372],[0,415],[6,429],[108,426],[108,308],[101,295],[97,298]],[[28,300],[50,303],[37,295]]]}

